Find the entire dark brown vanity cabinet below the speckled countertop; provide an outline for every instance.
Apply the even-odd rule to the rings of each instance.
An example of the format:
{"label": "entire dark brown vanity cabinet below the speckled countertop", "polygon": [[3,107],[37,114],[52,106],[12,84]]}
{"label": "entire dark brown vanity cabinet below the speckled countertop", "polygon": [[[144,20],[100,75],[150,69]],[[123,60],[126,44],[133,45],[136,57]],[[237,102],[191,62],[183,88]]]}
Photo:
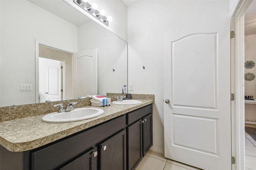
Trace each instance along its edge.
{"label": "entire dark brown vanity cabinet below the speckled countertop", "polygon": [[151,146],[152,104],[33,150],[0,146],[0,169],[130,170]]}

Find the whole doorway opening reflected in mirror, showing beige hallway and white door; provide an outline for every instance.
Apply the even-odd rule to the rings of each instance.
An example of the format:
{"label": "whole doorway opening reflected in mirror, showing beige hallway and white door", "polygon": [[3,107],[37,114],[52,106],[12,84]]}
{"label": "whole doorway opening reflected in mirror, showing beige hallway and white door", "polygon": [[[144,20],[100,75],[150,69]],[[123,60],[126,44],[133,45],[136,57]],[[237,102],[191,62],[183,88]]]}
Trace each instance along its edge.
{"label": "whole doorway opening reflected in mirror, showing beige hallway and white door", "polygon": [[[39,44],[38,52],[39,102],[73,99],[72,90],[68,90],[73,87],[73,54],[41,44]],[[61,62],[63,63],[62,71],[60,70]],[[61,93],[61,91],[63,92]]]}

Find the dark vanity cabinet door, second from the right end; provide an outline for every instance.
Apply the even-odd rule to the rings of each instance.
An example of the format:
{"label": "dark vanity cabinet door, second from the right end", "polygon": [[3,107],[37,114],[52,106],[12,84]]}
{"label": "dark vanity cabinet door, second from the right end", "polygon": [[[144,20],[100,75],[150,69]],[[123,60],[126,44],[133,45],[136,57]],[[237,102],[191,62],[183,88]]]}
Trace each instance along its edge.
{"label": "dark vanity cabinet door, second from the right end", "polygon": [[128,169],[135,169],[142,160],[142,120],[128,128]]}

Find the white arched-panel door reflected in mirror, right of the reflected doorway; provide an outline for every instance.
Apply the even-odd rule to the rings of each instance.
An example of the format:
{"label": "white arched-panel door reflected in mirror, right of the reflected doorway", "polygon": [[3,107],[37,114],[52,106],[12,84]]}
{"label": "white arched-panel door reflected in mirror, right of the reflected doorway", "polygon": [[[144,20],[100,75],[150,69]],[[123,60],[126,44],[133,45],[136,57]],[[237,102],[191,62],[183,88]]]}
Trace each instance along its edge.
{"label": "white arched-panel door reflected in mirror, right of the reflected doorway", "polygon": [[98,51],[91,49],[74,53],[76,75],[74,76],[77,97],[98,95]]}

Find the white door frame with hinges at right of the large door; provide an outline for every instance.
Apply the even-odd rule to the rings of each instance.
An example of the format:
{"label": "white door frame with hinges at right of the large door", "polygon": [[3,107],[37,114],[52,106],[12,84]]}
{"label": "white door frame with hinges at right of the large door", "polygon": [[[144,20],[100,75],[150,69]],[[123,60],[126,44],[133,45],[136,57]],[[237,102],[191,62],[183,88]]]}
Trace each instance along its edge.
{"label": "white door frame with hinges at right of the large door", "polygon": [[236,163],[232,169],[245,167],[244,160],[244,13],[252,0],[238,0],[236,8],[230,15],[230,29],[235,32],[235,38],[230,40],[231,62],[231,92],[235,100],[231,101],[232,123],[232,156]]}

